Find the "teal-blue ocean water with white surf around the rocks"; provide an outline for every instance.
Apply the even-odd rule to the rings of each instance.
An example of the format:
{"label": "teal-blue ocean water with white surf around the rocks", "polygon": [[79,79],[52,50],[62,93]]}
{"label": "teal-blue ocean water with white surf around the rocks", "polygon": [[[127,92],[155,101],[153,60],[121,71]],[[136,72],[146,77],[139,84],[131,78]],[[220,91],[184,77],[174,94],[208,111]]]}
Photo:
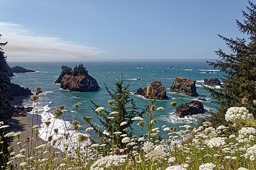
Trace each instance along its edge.
{"label": "teal-blue ocean water with white surf around the rocks", "polygon": [[[93,122],[98,122],[91,107],[90,100],[101,107],[109,108],[108,100],[110,99],[106,86],[111,89],[115,88],[115,80],[125,79],[125,84],[130,84],[130,91],[136,92],[139,87],[146,87],[148,84],[159,80],[167,89],[167,95],[170,100],[156,101],[157,107],[164,107],[163,111],[155,114],[158,120],[156,126],[162,125],[177,126],[190,124],[194,125],[199,121],[199,116],[191,116],[186,118],[176,118],[174,116],[174,108],[171,107],[170,102],[176,101],[177,105],[181,103],[188,103],[191,100],[197,100],[199,97],[204,97],[207,101],[203,101],[204,108],[215,110],[216,104],[210,97],[210,94],[205,91],[200,83],[203,83],[205,78],[221,78],[221,71],[213,69],[205,61],[170,61],[170,62],[82,62],[88,70],[89,75],[93,76],[101,87],[99,91],[95,92],[68,92],[60,89],[60,84],[54,84],[57,77],[60,75],[61,66],[67,65],[72,68],[79,63],[57,63],[57,62],[9,62],[9,66],[22,66],[26,69],[35,70],[35,73],[17,73],[11,78],[12,83],[20,84],[20,86],[28,87],[35,92],[35,87],[42,88],[43,93],[39,98],[39,114],[41,114],[43,121],[46,117],[53,116],[52,111],[59,108],[59,105],[64,105],[65,121],[70,122],[75,116],[75,120],[80,121],[81,128],[79,131],[85,132],[86,129],[83,117],[92,116]],[[174,82],[175,77],[183,76],[185,78],[196,80],[197,93],[199,97],[190,97],[176,92],[171,92],[170,87]],[[141,78],[137,80],[137,78]],[[139,108],[143,108],[148,104],[148,100],[142,97],[132,95],[133,99]],[[80,104],[79,109],[75,112],[74,104]],[[31,100],[25,100],[24,105],[31,106]],[[205,115],[208,115],[205,113]],[[44,125],[42,125],[44,126]],[[55,122],[55,128],[63,127],[62,118],[58,118]],[[134,124],[136,126],[136,124]],[[195,125],[194,125],[195,126]],[[43,127],[44,128],[44,127]],[[44,135],[42,135],[44,138]]]}

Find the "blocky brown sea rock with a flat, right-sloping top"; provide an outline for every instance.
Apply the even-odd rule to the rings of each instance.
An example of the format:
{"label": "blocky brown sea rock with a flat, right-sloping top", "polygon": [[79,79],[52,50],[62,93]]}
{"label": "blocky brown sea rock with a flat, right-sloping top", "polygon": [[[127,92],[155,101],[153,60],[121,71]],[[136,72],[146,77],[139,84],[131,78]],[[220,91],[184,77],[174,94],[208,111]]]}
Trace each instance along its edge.
{"label": "blocky brown sea rock with a flat, right-sloping top", "polygon": [[196,80],[176,77],[172,83],[171,90],[192,97],[199,96],[196,92]]}

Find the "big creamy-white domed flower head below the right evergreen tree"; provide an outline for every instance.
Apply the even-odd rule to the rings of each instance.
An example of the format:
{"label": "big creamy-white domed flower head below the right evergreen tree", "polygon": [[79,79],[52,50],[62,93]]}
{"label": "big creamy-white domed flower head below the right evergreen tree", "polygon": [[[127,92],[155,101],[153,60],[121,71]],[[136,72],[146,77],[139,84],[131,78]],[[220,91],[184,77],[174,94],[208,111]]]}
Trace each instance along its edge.
{"label": "big creamy-white domed flower head below the right evergreen tree", "polygon": [[225,114],[225,120],[230,122],[245,121],[249,118],[253,118],[253,114],[249,113],[245,107],[231,107]]}

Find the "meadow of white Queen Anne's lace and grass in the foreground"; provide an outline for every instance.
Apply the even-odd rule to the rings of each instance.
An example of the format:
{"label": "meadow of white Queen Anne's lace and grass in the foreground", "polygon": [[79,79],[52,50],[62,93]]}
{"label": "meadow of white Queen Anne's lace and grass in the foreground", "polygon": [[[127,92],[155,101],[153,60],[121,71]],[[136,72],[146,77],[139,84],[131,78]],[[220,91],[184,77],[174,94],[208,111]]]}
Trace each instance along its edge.
{"label": "meadow of white Queen Anne's lace and grass in the foreground", "polygon": [[[32,96],[32,99],[36,107],[39,98]],[[210,122],[203,122],[198,128],[190,125],[174,128],[167,124],[158,129],[155,128],[157,118],[154,114],[164,108],[154,108],[154,101],[151,99],[148,103],[150,109],[143,117],[132,118],[141,132],[138,137],[129,137],[122,131],[112,131],[106,134],[106,138],[98,138],[95,140],[97,143],[92,143],[90,132],[94,128],[87,124],[86,133],[77,133],[80,122],[76,121],[75,117],[70,125],[64,125],[64,133],[59,133],[57,129],[51,130],[47,142],[43,145],[38,143],[38,125],[32,127],[35,137],[33,138],[33,134],[28,136],[24,145],[21,145],[20,141],[22,133],[3,133],[2,138],[11,137],[19,152],[14,152],[17,148],[9,147],[9,162],[1,168],[256,169],[256,121],[246,108],[230,108],[225,114],[228,126],[213,128]],[[175,103],[171,104],[176,107]],[[74,107],[80,106],[75,104]],[[60,106],[53,111],[55,118],[63,116],[63,109],[64,107]],[[102,112],[104,109],[99,107],[96,112]],[[35,111],[34,116],[37,114]],[[109,117],[114,121],[118,118],[118,112],[110,114]],[[90,117],[85,117],[85,121],[90,122]],[[54,122],[43,122],[46,124],[44,130],[48,130],[49,124]],[[126,125],[126,122],[121,122],[120,126],[123,125]],[[8,127],[1,122],[0,128],[5,130]],[[165,138],[159,138],[160,131],[164,131]],[[71,138],[74,136],[75,139]],[[1,143],[1,148],[3,145]],[[62,152],[50,146],[61,148]]]}

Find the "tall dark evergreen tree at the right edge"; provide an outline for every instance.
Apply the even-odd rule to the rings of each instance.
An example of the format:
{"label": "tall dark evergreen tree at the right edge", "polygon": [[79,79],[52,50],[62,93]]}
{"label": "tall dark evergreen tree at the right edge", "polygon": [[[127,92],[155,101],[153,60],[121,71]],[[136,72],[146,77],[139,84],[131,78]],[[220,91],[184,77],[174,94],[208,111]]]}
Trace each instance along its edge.
{"label": "tall dark evergreen tree at the right edge", "polygon": [[240,32],[248,38],[228,39],[218,35],[231,53],[218,49],[216,54],[220,60],[208,62],[210,66],[218,67],[225,73],[222,79],[224,85],[220,90],[207,88],[219,105],[218,112],[211,117],[214,125],[224,124],[225,112],[229,107],[246,107],[256,117],[253,102],[256,99],[256,5],[250,1],[248,3],[248,12],[242,11],[245,18],[243,23],[236,20]]}

